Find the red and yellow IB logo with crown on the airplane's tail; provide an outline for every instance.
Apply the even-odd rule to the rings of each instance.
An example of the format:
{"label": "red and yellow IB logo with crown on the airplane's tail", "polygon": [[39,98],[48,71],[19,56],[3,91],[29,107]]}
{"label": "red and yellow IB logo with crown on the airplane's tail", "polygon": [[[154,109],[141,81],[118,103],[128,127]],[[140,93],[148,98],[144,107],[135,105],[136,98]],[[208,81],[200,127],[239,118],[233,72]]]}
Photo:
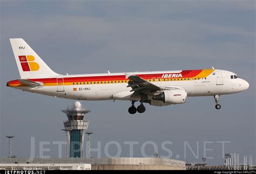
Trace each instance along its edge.
{"label": "red and yellow IB logo with crown on the airplane's tail", "polygon": [[40,66],[34,60],[35,57],[33,55],[19,55],[23,71],[37,71]]}

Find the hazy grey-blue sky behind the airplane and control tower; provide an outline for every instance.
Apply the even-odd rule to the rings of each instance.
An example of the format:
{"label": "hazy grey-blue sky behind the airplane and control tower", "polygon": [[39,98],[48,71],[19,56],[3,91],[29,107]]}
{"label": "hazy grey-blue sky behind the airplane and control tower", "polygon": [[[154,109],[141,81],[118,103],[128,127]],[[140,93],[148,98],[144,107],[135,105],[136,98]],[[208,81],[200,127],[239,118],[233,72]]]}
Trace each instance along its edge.
{"label": "hazy grey-blue sky behind the airplane and control tower", "polygon": [[[1,138],[0,157],[8,156],[13,134],[13,154],[30,155],[30,137],[64,141],[61,130],[65,109],[75,100],[52,98],[5,87],[19,73],[9,38],[23,38],[60,74],[86,74],[178,69],[232,71],[250,83],[242,93],[220,96],[221,109],[213,97],[188,98],[183,105],[154,107],[131,116],[129,101],[83,101],[90,121],[92,148],[101,142],[102,157],[107,142],[122,147],[120,157],[129,156],[125,141],[138,141],[134,157],[141,157],[142,144],[155,142],[161,156],[171,149],[171,158],[200,162],[205,149],[208,164],[223,164],[225,152],[252,154],[255,163],[255,1],[0,1],[1,5]],[[138,105],[138,104],[137,104]],[[184,143],[199,155],[195,158]],[[206,143],[205,143],[206,142]],[[210,143],[207,143],[210,142]],[[146,146],[146,155],[154,152]],[[117,153],[111,145],[109,153]],[[96,156],[92,152],[92,156]]]}

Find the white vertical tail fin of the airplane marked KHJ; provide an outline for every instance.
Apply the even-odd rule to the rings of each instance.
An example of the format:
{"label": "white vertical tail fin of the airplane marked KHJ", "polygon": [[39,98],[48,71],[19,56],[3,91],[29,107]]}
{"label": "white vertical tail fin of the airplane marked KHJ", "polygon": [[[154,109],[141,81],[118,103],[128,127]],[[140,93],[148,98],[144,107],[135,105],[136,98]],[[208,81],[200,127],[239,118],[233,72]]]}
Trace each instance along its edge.
{"label": "white vertical tail fin of the airplane marked KHJ", "polygon": [[10,41],[22,79],[59,75],[53,72],[23,39],[10,39]]}

